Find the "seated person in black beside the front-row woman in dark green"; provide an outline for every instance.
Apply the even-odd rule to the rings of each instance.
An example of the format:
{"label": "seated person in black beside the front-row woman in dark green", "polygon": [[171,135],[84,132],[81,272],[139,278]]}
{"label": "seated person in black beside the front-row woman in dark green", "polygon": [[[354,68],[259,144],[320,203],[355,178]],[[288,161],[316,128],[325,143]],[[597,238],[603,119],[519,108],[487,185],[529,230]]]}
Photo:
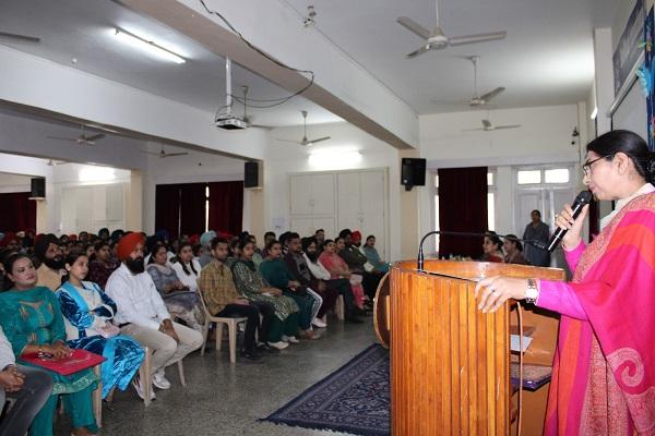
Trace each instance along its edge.
{"label": "seated person in black beside the front-row woman in dark green", "polygon": [[336,298],[338,296],[338,290],[336,288],[327,288],[327,284],[323,280],[312,276],[307,259],[302,254],[302,242],[298,233],[291,233],[287,240],[289,252],[284,257],[291,276],[302,287],[308,290],[315,292],[321,298],[321,304],[314,314],[312,324],[315,327],[324,328],[327,326],[321,318],[327,313],[329,310],[334,307]]}

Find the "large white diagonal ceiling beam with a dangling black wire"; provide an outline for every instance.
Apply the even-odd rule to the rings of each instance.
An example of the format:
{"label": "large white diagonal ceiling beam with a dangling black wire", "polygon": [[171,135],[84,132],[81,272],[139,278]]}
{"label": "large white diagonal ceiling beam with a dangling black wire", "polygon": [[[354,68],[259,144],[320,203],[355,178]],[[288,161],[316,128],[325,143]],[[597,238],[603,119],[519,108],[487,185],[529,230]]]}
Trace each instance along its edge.
{"label": "large white diagonal ceiling beam with a dangling black wire", "polygon": [[[212,52],[278,86],[296,92],[307,86],[306,75],[283,68],[248,47],[238,35],[207,14],[198,0],[120,0],[196,40]],[[302,96],[370,135],[398,149],[416,148],[418,117],[382,83],[275,1],[211,2],[230,16],[235,26],[258,48],[289,65],[314,71],[314,84]],[[298,44],[301,40],[302,44]],[[192,61],[192,60],[190,60]],[[310,65],[310,66],[307,66]]]}

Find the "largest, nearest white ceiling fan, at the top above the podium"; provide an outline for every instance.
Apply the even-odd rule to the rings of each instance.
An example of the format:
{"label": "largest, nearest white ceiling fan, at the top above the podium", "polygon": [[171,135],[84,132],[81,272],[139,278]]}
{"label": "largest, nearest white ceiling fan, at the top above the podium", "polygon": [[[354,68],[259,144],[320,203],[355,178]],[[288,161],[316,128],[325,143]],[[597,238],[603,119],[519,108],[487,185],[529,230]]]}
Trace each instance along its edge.
{"label": "largest, nearest white ceiling fan, at the top above the podium", "polygon": [[485,43],[496,39],[504,39],[507,32],[491,32],[486,34],[462,35],[448,37],[439,23],[439,0],[436,0],[437,25],[433,31],[428,31],[417,22],[406,16],[400,16],[396,22],[409,32],[420,36],[426,41],[417,50],[407,55],[407,58],[415,58],[429,50],[441,50],[449,46],[463,46],[465,44]]}

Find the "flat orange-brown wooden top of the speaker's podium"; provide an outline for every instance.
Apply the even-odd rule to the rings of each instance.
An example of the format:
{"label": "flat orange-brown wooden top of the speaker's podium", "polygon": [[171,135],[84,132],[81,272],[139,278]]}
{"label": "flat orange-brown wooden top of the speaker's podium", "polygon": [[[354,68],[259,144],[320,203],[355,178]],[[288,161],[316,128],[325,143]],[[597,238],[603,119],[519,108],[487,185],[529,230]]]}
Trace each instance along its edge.
{"label": "flat orange-brown wooden top of the speaker's podium", "polygon": [[508,276],[517,278],[539,278],[545,280],[563,280],[564,270],[529,265],[501,264],[492,262],[463,262],[426,259],[424,271],[416,268],[416,261],[400,261],[392,268],[409,275],[434,275],[466,281],[477,281],[487,277]]}

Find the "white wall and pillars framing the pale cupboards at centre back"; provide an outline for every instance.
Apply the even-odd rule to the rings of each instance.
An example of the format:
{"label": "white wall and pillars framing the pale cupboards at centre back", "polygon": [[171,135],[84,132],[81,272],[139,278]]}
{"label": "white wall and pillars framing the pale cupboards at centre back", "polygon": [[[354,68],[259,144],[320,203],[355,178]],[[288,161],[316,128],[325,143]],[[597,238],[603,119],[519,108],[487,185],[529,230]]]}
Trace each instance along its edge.
{"label": "white wall and pillars framing the pale cupboards at centre back", "polygon": [[[264,208],[266,230],[277,234],[288,230],[289,223],[289,184],[288,174],[296,172],[334,171],[350,169],[386,168],[389,170],[389,208],[388,219],[391,259],[400,258],[401,223],[400,194],[401,170],[397,149],[379,141],[368,133],[348,123],[330,123],[312,125],[308,130],[309,138],[331,136],[331,140],[311,147],[302,147],[291,143],[282,143],[276,138],[300,140],[302,128],[275,129],[269,133],[269,149],[264,161]],[[322,159],[310,162],[309,153],[333,150],[337,160]],[[340,153],[359,150],[361,160],[349,165],[338,161]],[[274,223],[284,222],[276,228]],[[364,229],[366,231],[366,229]],[[263,235],[259,235],[261,238]]]}

